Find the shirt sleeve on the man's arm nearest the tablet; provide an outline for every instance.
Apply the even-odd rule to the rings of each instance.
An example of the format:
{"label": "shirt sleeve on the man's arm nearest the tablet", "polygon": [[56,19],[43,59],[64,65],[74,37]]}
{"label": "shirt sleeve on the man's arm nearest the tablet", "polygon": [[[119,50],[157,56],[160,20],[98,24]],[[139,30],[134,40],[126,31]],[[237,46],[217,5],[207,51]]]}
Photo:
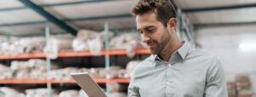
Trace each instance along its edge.
{"label": "shirt sleeve on the man's arm nearest the tablet", "polygon": [[131,76],[131,81],[128,86],[128,97],[141,97],[138,90],[139,88],[135,85],[134,76]]}

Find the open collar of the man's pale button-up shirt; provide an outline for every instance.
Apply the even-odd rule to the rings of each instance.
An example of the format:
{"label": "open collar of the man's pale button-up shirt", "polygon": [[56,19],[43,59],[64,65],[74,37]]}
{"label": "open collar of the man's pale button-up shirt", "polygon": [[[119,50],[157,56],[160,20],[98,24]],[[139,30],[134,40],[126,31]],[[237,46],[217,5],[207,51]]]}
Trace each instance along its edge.
{"label": "open collar of the man's pale button-up shirt", "polygon": [[[174,63],[174,62],[177,62],[177,60],[184,60],[189,52],[189,43],[186,43],[186,42],[182,42],[183,43],[183,46],[178,48],[177,51],[175,51],[173,54],[172,54],[172,57],[170,58],[170,60],[168,61],[168,63],[171,62]],[[157,64],[157,60],[159,61],[164,61],[164,60],[161,60],[160,57],[157,55],[157,54],[154,54],[154,66],[157,66],[159,64]]]}

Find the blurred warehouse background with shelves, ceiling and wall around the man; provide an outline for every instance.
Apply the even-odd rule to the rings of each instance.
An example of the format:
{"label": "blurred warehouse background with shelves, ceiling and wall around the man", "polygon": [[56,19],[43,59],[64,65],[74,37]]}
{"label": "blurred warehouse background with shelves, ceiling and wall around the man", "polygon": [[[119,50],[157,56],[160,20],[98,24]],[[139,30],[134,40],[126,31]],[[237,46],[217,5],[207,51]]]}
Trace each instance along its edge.
{"label": "blurred warehouse background with shelves, ceiling and wall around the man", "polygon": [[[109,96],[127,96],[131,71],[150,54],[131,15],[135,3],[0,0],[0,97],[84,97],[69,76],[79,71]],[[256,0],[173,3],[179,37],[219,56],[229,96],[256,96]]]}

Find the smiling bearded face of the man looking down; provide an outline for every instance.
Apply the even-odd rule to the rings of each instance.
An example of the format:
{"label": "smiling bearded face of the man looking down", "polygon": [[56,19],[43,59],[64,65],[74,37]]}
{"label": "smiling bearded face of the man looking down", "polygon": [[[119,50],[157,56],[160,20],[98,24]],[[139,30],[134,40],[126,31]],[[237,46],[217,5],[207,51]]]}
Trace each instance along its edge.
{"label": "smiling bearded face of the man looking down", "polygon": [[157,14],[148,12],[136,16],[137,30],[141,32],[143,42],[147,43],[151,54],[160,54],[171,40],[167,28],[157,20]]}

